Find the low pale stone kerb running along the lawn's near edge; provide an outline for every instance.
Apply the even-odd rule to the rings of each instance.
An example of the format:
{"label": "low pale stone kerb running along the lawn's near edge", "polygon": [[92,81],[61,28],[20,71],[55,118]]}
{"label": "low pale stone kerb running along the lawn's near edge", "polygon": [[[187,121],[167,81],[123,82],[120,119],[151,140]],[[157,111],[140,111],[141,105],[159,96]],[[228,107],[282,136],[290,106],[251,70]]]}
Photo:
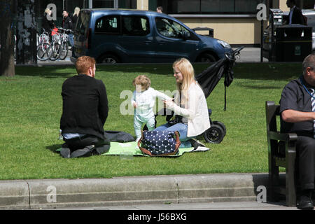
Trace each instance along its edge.
{"label": "low pale stone kerb running along the lawn's near edge", "polygon": [[267,181],[268,174],[0,181],[0,209],[189,209],[192,203],[203,204],[197,209],[250,209],[251,203],[255,209],[296,209],[258,203],[265,200]]}

